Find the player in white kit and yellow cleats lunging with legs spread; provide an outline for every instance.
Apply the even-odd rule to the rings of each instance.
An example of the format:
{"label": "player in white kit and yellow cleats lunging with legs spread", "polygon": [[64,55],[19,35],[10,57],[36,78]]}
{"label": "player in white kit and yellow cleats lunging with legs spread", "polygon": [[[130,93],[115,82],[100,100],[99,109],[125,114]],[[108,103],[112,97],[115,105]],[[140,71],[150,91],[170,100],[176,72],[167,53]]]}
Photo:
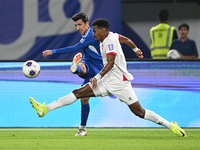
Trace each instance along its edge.
{"label": "player in white kit and yellow cleats lunging with legs spread", "polygon": [[[90,83],[73,90],[69,95],[51,104],[40,104],[31,97],[29,100],[38,116],[43,117],[49,111],[70,105],[79,98],[115,95],[120,101],[126,103],[136,116],[163,125],[177,136],[186,137],[185,131],[176,122],[170,123],[153,111],[142,108],[131,86],[130,80],[133,76],[127,71],[125,57],[118,39],[120,37],[109,32],[109,22],[106,19],[97,19],[92,26],[95,40],[101,41],[100,50],[104,68],[90,79]],[[137,51],[138,48],[133,50]]]}

